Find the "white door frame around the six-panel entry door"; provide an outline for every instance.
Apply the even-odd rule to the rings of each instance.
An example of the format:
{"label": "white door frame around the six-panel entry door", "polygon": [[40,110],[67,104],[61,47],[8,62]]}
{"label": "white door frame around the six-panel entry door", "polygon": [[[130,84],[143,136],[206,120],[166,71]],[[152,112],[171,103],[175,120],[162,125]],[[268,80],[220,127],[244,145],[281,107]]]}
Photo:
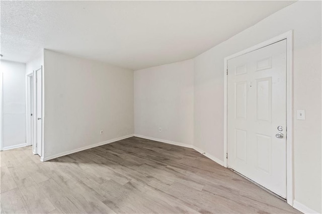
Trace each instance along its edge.
{"label": "white door frame around the six-panel entry door", "polygon": [[273,43],[286,39],[286,200],[287,203],[293,206],[293,31],[288,31],[272,39],[269,39],[260,44],[254,45],[245,50],[239,51],[235,54],[224,58],[224,156],[223,166],[227,168],[227,103],[228,103],[228,78],[227,65],[228,60],[240,55],[247,54]]}

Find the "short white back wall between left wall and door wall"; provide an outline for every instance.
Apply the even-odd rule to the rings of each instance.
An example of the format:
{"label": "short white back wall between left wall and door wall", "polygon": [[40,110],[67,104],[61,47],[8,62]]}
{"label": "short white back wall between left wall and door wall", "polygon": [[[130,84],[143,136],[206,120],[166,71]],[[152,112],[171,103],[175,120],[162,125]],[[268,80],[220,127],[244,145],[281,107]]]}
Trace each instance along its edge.
{"label": "short white back wall between left wall and door wall", "polygon": [[134,72],[135,135],[193,144],[193,68],[186,60]]}

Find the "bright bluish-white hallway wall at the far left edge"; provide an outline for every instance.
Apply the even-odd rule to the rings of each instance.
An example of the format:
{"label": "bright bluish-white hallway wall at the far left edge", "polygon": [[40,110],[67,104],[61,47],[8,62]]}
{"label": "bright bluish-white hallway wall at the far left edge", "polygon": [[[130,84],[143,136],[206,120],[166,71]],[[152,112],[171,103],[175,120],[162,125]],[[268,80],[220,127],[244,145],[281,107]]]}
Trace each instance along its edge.
{"label": "bright bluish-white hallway wall at the far left edge", "polygon": [[26,145],[26,64],[1,60],[3,150]]}

